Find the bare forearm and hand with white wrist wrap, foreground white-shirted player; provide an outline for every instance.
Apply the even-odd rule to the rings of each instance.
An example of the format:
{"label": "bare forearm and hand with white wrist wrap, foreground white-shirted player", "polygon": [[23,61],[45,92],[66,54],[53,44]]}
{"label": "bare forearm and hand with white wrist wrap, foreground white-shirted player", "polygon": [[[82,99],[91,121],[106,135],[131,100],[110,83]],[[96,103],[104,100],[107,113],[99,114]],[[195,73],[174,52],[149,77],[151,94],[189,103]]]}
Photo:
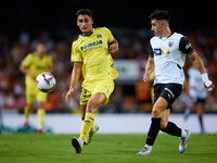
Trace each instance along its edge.
{"label": "bare forearm and hand with white wrist wrap, foreground white-shirted player", "polygon": [[215,85],[208,79],[208,75],[205,72],[201,58],[196,54],[195,51],[190,54],[189,58],[193,61],[195,68],[201,73],[204,86],[208,89],[208,91],[212,91],[215,88]]}

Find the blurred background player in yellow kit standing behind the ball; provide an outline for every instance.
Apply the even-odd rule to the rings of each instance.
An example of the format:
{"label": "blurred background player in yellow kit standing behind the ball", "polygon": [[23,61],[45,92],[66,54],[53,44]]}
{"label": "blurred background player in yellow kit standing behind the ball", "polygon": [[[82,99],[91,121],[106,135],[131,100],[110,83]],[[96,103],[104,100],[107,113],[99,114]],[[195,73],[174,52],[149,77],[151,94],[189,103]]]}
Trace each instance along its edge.
{"label": "blurred background player in yellow kit standing behind the ball", "polygon": [[44,54],[46,46],[39,43],[36,48],[36,52],[27,54],[22,61],[20,70],[25,76],[26,86],[26,106],[24,108],[25,123],[24,131],[28,126],[28,116],[33,112],[33,103],[35,100],[38,102],[37,110],[37,134],[42,133],[43,117],[46,114],[44,102],[47,101],[48,93],[41,92],[36,87],[36,77],[43,72],[50,72],[52,66],[52,58]]}

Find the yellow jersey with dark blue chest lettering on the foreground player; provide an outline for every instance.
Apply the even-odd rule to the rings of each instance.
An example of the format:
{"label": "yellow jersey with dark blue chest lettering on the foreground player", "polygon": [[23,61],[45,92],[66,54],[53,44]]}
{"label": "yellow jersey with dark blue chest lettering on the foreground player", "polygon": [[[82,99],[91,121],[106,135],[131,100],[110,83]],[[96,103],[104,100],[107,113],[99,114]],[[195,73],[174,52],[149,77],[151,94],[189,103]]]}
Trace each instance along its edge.
{"label": "yellow jersey with dark blue chest lettering on the foreground player", "polygon": [[84,79],[100,79],[118,74],[110,53],[108,43],[114,37],[106,27],[93,28],[89,36],[79,35],[72,46],[72,62],[82,62]]}

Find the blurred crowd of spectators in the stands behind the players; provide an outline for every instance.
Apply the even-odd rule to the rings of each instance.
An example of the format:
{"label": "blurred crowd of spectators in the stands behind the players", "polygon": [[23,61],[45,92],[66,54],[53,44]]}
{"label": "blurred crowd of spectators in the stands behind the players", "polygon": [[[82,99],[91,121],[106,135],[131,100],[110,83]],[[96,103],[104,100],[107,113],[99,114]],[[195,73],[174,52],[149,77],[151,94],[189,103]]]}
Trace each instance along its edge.
{"label": "blurred crowd of spectators in the stands behind the players", "polygon": [[[149,57],[149,40],[153,36],[150,29],[130,29],[110,27],[114,37],[119,42],[119,51],[113,54],[114,60],[146,60]],[[199,55],[202,58],[209,78],[217,86],[217,33],[208,30],[186,30],[186,35]],[[25,105],[24,75],[18,67],[22,60],[29,52],[35,51],[39,42],[47,45],[47,53],[53,58],[52,74],[56,78],[56,88],[49,93],[46,104],[48,112],[79,112],[80,85],[77,85],[72,103],[65,103],[65,93],[71,82],[73,63],[71,62],[71,46],[78,36],[78,32],[60,29],[50,32],[46,29],[22,29],[16,34],[3,34],[0,32],[0,109],[23,112]],[[187,61],[184,72],[191,66]],[[142,76],[143,74],[141,74]],[[80,84],[80,83],[79,83]],[[143,87],[139,87],[141,85]],[[146,88],[143,91],[143,88]],[[145,93],[140,98],[139,92]],[[150,112],[151,84],[138,82],[135,85],[117,84],[111,96],[110,102],[100,108],[101,113],[114,112]],[[184,83],[182,95],[174,104],[175,112],[183,112],[191,105],[188,96],[188,79]],[[217,91],[208,93],[205,105],[206,112],[217,112]]]}

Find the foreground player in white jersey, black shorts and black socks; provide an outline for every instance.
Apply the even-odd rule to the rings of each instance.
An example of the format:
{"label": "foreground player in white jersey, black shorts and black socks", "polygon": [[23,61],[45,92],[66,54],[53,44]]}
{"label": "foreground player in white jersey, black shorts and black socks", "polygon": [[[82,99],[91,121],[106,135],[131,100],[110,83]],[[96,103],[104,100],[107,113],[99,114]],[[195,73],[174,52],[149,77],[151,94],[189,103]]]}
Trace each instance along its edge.
{"label": "foreground player in white jersey, black shorts and black socks", "polygon": [[189,57],[195,68],[201,73],[204,86],[212,91],[215,86],[208,79],[204,65],[193,50],[189,40],[181,34],[173,33],[169,28],[170,16],[167,11],[155,11],[150,15],[151,28],[154,37],[150,40],[149,59],[143,80],[148,83],[155,67],[154,78],[154,105],[152,109],[152,122],[148,133],[146,145],[138,152],[138,155],[149,155],[159,129],[171,136],[180,137],[179,152],[187,149],[190,130],[177,127],[168,122],[171,104],[182,91],[184,74],[182,66],[186,57]]}

